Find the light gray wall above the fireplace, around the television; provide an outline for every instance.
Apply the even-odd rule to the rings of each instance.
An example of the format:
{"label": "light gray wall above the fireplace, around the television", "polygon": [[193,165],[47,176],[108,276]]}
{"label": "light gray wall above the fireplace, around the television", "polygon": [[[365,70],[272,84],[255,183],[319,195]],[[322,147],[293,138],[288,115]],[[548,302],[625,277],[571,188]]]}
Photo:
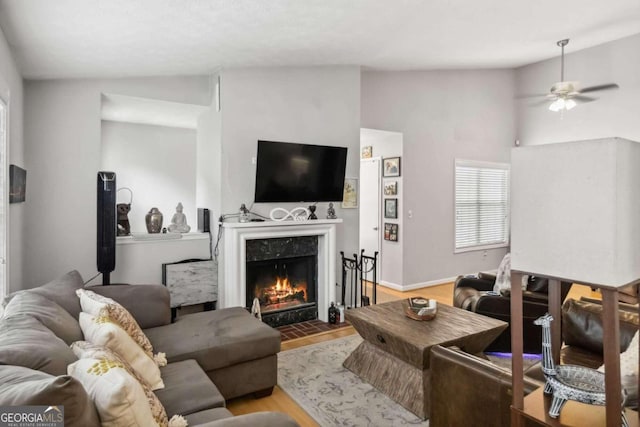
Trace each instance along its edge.
{"label": "light gray wall above the fireplace, around the television", "polygon": [[[254,198],[259,139],[348,147],[347,176],[360,168],[360,69],[358,67],[228,69],[221,73],[222,213],[236,213]],[[276,206],[256,204],[268,215]],[[316,214],[326,216],[328,203]],[[341,209],[337,248],[358,249],[358,209]],[[340,277],[340,276],[338,276]]]}

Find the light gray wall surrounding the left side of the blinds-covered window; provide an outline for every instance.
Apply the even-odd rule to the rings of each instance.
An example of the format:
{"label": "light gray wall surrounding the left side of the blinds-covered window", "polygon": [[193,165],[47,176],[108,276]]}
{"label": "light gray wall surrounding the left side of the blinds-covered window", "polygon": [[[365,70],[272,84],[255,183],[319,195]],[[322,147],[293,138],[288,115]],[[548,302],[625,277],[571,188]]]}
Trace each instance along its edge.
{"label": "light gray wall surrounding the left side of the blinds-covered window", "polygon": [[405,289],[495,269],[504,256],[454,254],[454,160],[509,162],[514,80],[513,70],[362,73],[362,127],[404,136]]}

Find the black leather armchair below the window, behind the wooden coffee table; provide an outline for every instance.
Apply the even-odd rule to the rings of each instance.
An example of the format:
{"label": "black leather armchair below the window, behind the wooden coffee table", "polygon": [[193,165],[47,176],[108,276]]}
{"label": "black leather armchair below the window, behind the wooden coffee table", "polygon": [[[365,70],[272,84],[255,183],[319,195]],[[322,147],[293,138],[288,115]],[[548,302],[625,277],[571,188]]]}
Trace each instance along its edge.
{"label": "black leather armchair below the window, behind the wooden coffee table", "polygon": [[[511,298],[509,292],[491,294],[496,276],[479,273],[477,277],[459,276],[454,286],[453,305],[474,313],[503,320],[511,324]],[[529,277],[527,289],[522,293],[523,350],[542,353],[542,329],[533,321],[549,311],[547,279]],[[571,288],[570,282],[561,282],[564,301]],[[485,351],[511,351],[511,328],[505,329]]]}

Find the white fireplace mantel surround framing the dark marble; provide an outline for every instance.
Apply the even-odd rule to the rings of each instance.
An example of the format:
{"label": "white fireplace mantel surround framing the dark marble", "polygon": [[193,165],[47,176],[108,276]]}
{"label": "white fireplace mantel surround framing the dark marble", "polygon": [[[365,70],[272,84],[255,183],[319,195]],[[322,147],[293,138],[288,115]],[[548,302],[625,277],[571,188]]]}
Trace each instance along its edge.
{"label": "white fireplace mantel surround framing the dark marble", "polygon": [[318,318],[327,322],[329,304],[336,301],[336,226],[340,223],[341,219],[223,223],[218,307],[245,306],[247,240],[318,236]]}

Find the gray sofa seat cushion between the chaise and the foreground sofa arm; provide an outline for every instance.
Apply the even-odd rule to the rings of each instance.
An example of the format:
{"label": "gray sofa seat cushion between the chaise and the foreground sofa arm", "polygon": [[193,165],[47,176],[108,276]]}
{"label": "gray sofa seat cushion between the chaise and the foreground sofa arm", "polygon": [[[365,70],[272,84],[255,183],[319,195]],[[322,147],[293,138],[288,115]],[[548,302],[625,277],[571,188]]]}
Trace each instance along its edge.
{"label": "gray sofa seat cushion between the chaise and the foreground sofa arm", "polygon": [[160,370],[165,387],[156,395],[169,417],[224,406],[224,397],[195,360],[169,363]]}

